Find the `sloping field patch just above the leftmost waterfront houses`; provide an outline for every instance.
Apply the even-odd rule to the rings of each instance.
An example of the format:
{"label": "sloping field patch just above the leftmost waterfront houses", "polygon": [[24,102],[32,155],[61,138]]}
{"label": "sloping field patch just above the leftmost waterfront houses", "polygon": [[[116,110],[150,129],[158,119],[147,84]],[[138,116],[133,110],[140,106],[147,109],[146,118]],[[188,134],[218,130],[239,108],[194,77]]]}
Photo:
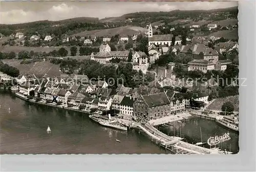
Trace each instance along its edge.
{"label": "sloping field patch just above the leftmost waterfront houses", "polygon": [[19,73],[24,75],[32,73],[34,73],[35,75],[45,75],[45,73],[47,73],[48,76],[54,77],[60,76],[60,74],[62,74],[62,72],[59,71],[59,65],[52,64],[49,62],[20,64],[21,60],[16,59],[4,59],[2,61],[10,66],[18,68]]}

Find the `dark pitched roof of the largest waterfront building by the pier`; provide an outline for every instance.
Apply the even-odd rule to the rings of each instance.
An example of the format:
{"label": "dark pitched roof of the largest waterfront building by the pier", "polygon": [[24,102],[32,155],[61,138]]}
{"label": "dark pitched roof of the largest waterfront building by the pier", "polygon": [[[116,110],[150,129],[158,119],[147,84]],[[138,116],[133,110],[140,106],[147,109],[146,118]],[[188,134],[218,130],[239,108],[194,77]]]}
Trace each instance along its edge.
{"label": "dark pitched roof of the largest waterfront building by the pier", "polygon": [[164,92],[142,95],[142,97],[149,107],[156,107],[156,106],[170,104],[168,97]]}

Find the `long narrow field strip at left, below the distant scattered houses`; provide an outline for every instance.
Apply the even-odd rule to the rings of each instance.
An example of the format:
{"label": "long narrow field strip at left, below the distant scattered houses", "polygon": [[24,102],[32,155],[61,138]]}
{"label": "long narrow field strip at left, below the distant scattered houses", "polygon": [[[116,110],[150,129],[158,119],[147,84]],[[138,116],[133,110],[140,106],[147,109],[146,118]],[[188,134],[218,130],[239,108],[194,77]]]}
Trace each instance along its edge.
{"label": "long narrow field strip at left, below the distant scattered houses", "polygon": [[[58,51],[59,48],[61,48],[60,46],[58,47],[47,47],[47,46],[44,46],[44,47],[27,47],[27,46],[0,46],[0,52],[3,52],[3,53],[7,53],[7,52],[14,52],[16,54],[18,54],[19,52],[22,52],[22,51],[34,51],[34,52],[46,52],[46,53],[49,53],[53,50],[56,50]],[[70,55],[70,47],[65,47],[66,50],[68,50],[69,54]]]}

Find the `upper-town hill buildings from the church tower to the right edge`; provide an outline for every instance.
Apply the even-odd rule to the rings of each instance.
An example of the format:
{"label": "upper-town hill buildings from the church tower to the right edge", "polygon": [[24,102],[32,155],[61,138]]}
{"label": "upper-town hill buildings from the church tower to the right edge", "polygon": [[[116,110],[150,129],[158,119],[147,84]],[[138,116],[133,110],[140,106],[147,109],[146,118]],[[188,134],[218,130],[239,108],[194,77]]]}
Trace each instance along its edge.
{"label": "upper-town hill buildings from the church tower to the right edge", "polygon": [[[198,28],[198,26],[192,26]],[[208,24],[209,29],[217,28],[217,24]],[[181,45],[181,39],[176,37],[175,45],[172,45],[173,35],[153,35],[152,26],[148,27],[148,56],[150,63],[154,63],[161,55],[184,53],[187,57],[193,58],[193,61],[188,63],[189,70],[225,70],[231,60],[219,60],[224,52],[230,53],[236,51],[238,56],[237,42],[220,42],[219,46],[214,48],[207,47],[208,42],[205,39],[193,39],[190,45]],[[213,38],[212,38],[213,39]],[[202,42],[200,42],[203,40]],[[171,46],[172,45],[172,46]]]}

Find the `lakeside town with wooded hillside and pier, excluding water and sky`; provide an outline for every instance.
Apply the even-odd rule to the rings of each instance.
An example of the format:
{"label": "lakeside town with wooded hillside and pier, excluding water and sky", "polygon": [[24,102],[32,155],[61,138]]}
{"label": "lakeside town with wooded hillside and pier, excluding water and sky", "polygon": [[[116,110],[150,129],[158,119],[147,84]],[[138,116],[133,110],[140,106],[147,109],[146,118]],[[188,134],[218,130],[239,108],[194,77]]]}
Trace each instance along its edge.
{"label": "lakeside town with wooded hillside and pier, excluding water and sky", "polygon": [[[230,154],[204,148],[203,141],[187,143],[157,129],[197,116],[239,131],[239,44],[238,38],[228,36],[228,32],[238,32],[237,13],[233,8],[220,11],[199,12],[201,15],[194,18],[179,16],[172,21],[183,24],[156,17],[159,21],[142,26],[137,24],[140,16],[122,22],[102,21],[97,23],[104,28],[99,35],[84,31],[57,36],[54,34],[63,26],[55,26],[53,29],[59,28],[52,33],[39,28],[49,35],[28,29],[7,36],[0,24],[0,31],[5,31],[0,39],[4,40],[0,46],[0,88],[15,91],[27,102],[89,114],[102,126],[125,131],[139,128],[176,153]],[[223,20],[233,25],[222,26]],[[73,22],[67,28],[75,23],[83,27],[96,24]],[[139,29],[130,35],[110,33],[133,24]],[[104,30],[108,31],[102,35]],[[212,36],[223,31],[228,31],[227,37]],[[222,138],[230,139],[228,134]],[[208,144],[220,142],[209,139]]]}

